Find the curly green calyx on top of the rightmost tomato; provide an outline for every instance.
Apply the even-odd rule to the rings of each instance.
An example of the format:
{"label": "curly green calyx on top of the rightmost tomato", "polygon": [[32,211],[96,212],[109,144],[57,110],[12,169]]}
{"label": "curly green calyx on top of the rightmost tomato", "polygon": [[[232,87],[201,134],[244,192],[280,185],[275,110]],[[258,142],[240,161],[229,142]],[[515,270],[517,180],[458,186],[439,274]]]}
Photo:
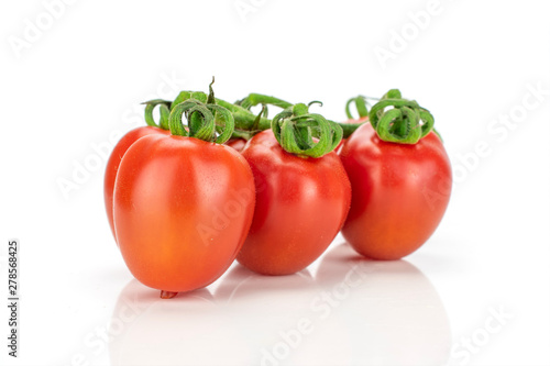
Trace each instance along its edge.
{"label": "curly green calyx on top of the rightmost tomato", "polygon": [[433,129],[433,115],[415,100],[402,98],[398,89],[373,106],[369,120],[381,140],[399,144],[416,144]]}

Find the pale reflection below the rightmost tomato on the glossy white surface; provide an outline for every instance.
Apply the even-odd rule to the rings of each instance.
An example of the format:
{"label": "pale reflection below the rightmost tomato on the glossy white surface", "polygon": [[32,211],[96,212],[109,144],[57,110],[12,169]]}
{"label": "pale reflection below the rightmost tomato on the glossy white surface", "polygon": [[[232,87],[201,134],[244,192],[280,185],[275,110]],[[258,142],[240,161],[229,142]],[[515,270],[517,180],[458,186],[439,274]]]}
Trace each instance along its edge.
{"label": "pale reflection below the rightmost tomato on the glossy white surface", "polygon": [[[341,244],[323,255],[316,281],[327,293],[316,303],[327,314],[316,334],[353,334],[345,344],[350,359],[339,365],[448,364],[452,336],[447,311],[437,289],[410,263],[370,260]],[[345,324],[345,332],[336,333],[332,324]]]}

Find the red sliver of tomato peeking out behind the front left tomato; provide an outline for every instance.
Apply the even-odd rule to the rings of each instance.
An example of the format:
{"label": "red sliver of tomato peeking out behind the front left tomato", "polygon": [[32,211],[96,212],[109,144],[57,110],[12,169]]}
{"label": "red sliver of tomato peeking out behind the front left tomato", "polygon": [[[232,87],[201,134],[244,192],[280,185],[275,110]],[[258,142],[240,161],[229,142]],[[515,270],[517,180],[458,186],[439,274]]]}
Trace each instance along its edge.
{"label": "red sliver of tomato peeking out behind the front left tomato", "polygon": [[143,136],[147,136],[151,134],[168,135],[169,131],[152,126],[134,129],[122,136],[122,138],[120,138],[120,141],[114,146],[109,160],[107,162],[103,180],[103,199],[105,208],[107,211],[107,219],[109,220],[109,225],[111,226],[111,233],[112,236],[114,236],[114,241],[117,241],[117,235],[114,235],[114,224],[112,222],[112,197],[114,192],[114,180],[117,179],[117,173],[119,171],[120,162],[134,142]]}

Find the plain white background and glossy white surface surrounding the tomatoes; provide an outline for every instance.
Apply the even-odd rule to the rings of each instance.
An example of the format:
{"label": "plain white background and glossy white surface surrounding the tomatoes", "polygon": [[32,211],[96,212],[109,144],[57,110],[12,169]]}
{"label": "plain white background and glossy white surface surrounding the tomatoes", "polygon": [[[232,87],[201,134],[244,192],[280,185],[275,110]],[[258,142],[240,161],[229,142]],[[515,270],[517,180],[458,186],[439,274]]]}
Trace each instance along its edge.
{"label": "plain white background and glossy white surface surrounding the tomatoes", "polygon": [[[55,19],[42,1],[2,1],[0,292],[16,237],[22,302],[18,359],[1,307],[1,364],[548,365],[544,5],[441,0],[419,27],[410,14],[428,0],[79,0]],[[143,124],[140,102],[206,90],[212,75],[222,99],[322,100],[334,120],[359,93],[399,88],[418,100],[454,167],[438,231],[402,262],[359,260],[337,237],[299,275],[234,266],[158,301],[111,237],[94,146],[106,152],[111,135]],[[85,164],[64,195],[59,181]]]}

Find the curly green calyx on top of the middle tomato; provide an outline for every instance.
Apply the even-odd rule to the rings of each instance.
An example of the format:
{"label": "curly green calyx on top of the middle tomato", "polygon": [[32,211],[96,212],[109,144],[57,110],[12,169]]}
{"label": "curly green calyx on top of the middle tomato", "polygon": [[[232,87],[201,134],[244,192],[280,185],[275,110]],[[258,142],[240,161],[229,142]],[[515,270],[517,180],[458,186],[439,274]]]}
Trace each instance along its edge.
{"label": "curly green calyx on top of the middle tomato", "polygon": [[304,103],[288,107],[275,115],[271,127],[280,146],[300,157],[321,157],[332,152],[342,140],[342,129],[338,123],[321,114],[309,113]]}

